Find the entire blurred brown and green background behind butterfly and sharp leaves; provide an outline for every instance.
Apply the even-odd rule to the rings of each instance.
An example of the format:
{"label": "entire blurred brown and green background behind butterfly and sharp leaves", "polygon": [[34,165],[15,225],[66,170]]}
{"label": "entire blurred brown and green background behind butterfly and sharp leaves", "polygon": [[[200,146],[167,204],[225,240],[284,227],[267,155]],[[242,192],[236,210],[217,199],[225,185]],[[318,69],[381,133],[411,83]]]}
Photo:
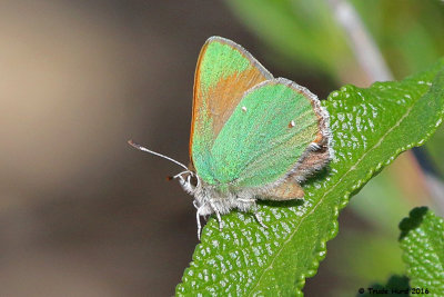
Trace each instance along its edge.
{"label": "entire blurred brown and green background behind butterfly and sharp leaves", "polygon": [[[344,16],[357,17],[382,76]],[[0,296],[174,294],[198,244],[191,197],[165,180],[179,167],[127,140],[188,162],[210,36],[324,99],[427,68],[443,28],[437,0],[0,0]],[[443,146],[441,127],[352,198],[306,296],[403,274],[400,220],[418,205],[443,215]]]}

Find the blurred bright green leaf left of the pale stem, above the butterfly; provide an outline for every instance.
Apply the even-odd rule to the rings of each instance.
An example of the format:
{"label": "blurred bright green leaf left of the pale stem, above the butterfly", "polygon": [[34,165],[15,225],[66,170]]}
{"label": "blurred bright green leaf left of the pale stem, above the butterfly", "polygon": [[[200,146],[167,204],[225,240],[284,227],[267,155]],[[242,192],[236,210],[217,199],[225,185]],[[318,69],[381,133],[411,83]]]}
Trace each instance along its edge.
{"label": "blurred bright green leaf left of the pale stem, above the butterfly", "polygon": [[324,1],[228,0],[239,18],[275,53],[275,62],[325,71],[333,78],[354,63]]}

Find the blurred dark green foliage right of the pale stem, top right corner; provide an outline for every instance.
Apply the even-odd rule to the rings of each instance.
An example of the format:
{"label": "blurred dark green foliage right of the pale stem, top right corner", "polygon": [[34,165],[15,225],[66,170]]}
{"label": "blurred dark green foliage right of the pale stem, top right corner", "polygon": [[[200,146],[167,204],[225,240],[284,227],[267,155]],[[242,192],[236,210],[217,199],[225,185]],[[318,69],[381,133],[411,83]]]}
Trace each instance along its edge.
{"label": "blurred dark green foliage right of the pale stem, top right corner", "polygon": [[[299,1],[297,1],[299,2]],[[395,78],[434,63],[444,53],[444,3],[438,0],[351,1]]]}

